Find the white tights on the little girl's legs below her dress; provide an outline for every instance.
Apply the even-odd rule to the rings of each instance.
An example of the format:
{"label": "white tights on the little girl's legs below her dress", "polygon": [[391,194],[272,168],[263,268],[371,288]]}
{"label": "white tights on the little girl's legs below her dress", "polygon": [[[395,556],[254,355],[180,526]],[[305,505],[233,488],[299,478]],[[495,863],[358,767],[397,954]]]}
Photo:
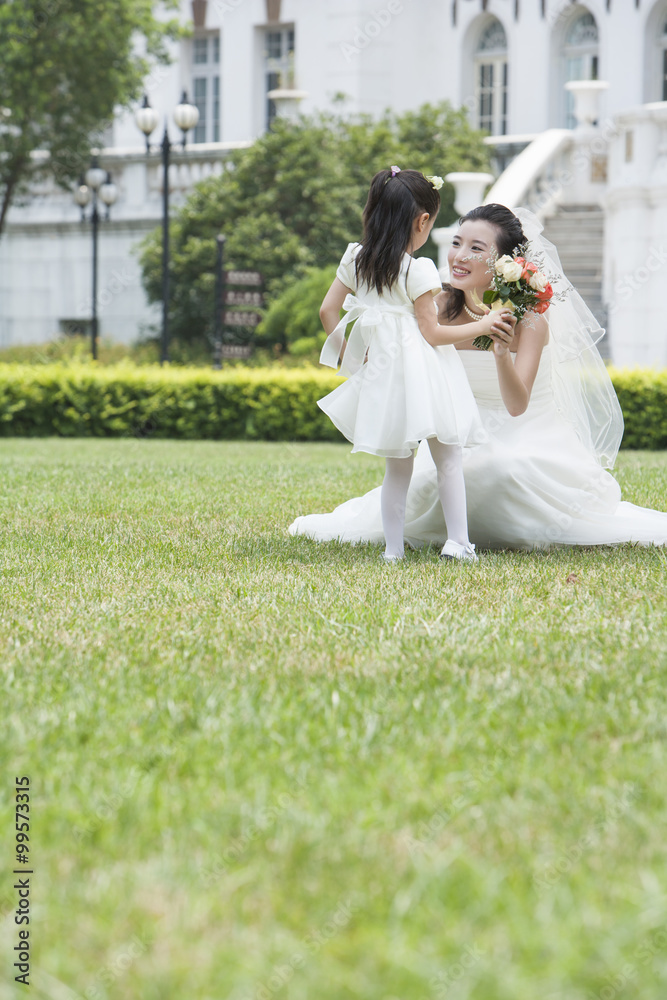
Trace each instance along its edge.
{"label": "white tights on the little girl's legs below her dress", "polygon": [[[437,438],[429,438],[428,445],[438,474],[438,496],[447,524],[447,537],[460,545],[469,545],[463,452],[459,445],[442,444]],[[413,465],[414,455],[386,459],[380,506],[388,556],[403,555],[405,504]]]}

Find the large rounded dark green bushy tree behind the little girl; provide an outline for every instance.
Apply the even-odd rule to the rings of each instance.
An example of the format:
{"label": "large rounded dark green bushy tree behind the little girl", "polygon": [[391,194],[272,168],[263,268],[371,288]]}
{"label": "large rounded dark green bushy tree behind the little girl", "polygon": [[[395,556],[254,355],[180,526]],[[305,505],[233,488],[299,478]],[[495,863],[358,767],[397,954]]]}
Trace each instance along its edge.
{"label": "large rounded dark green bushy tree behind the little girl", "polygon": [[[373,174],[396,163],[444,176],[488,170],[482,133],[447,102],[379,120],[319,114],[278,119],[247,149],[235,150],[220,176],[197,185],[171,225],[170,329],[205,346],[213,336],[215,237],[226,266],[264,275],[270,302],[308,268],[336,264],[361,235],[361,212]],[[443,186],[438,224],[456,217],[454,190]],[[423,250],[436,256],[433,242]],[[144,288],[161,299],[161,233],[140,246]]]}

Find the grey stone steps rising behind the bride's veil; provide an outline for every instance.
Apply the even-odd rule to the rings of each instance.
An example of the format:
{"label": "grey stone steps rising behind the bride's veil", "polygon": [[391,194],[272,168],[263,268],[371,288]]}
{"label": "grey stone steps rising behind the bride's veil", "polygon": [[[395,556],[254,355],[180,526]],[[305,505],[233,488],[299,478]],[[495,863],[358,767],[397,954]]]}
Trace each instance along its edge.
{"label": "grey stone steps rising behind the bride's veil", "polygon": [[[570,279],[601,327],[607,325],[602,301],[604,214],[597,205],[559,205],[544,220],[544,236],[556,245],[566,277]],[[609,359],[605,333],[598,350]]]}

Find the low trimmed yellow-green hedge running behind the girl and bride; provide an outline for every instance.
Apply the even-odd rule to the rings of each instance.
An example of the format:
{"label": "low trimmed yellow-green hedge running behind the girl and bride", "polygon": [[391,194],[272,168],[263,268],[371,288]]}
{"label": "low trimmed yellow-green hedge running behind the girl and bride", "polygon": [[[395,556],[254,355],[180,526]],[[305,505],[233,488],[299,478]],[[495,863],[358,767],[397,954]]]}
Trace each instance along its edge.
{"label": "low trimmed yellow-green hedge running behind the girl and bride", "polygon": [[[667,448],[667,371],[610,369],[624,448]],[[0,436],[340,441],[317,400],[340,384],[317,368],[0,364]]]}

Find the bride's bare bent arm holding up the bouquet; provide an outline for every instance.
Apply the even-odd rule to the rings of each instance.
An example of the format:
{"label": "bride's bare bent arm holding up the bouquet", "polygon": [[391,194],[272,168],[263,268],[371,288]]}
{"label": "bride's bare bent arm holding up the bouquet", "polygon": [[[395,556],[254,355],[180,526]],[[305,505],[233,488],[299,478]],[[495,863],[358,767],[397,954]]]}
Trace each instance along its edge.
{"label": "bride's bare bent arm holding up the bouquet", "polygon": [[[518,417],[525,413],[530,402],[542,349],[549,340],[549,324],[544,316],[526,313],[509,335],[502,331],[489,336],[495,341],[493,351],[503,403],[512,417]],[[512,362],[509,345],[515,337],[519,340]]]}

